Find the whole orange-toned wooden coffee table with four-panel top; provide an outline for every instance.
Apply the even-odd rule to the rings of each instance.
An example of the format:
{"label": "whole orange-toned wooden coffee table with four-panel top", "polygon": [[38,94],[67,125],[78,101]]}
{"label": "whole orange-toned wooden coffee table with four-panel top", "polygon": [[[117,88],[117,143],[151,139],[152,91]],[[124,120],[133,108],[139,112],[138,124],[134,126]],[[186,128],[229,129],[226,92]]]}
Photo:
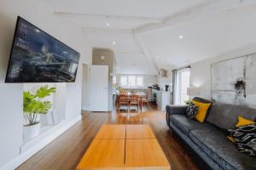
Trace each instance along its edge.
{"label": "whole orange-toned wooden coffee table with four-panel top", "polygon": [[77,170],[171,170],[149,125],[103,125]]}

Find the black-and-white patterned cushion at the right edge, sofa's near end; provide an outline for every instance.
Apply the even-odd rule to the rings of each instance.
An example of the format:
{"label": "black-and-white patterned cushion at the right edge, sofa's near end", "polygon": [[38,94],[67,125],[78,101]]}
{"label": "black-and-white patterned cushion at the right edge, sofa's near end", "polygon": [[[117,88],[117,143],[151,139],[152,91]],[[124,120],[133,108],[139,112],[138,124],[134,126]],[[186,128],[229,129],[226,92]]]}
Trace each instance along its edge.
{"label": "black-and-white patterned cushion at the right edge, sofa's near end", "polygon": [[237,149],[249,156],[256,156],[256,123],[230,129]]}

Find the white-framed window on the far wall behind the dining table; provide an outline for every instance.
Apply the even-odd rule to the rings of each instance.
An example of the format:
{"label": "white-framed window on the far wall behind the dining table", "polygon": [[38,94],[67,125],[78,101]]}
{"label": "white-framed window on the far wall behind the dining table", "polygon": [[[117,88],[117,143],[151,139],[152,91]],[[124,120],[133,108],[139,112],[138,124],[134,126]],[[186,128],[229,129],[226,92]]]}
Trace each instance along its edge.
{"label": "white-framed window on the far wall behind the dining table", "polygon": [[120,86],[123,87],[143,87],[143,77],[142,76],[121,76]]}

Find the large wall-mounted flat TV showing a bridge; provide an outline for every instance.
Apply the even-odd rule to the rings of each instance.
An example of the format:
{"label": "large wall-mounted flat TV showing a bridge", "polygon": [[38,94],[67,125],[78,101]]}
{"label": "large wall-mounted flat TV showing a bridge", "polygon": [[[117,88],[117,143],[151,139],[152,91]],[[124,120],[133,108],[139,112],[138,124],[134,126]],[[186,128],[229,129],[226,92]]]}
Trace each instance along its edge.
{"label": "large wall-mounted flat TV showing a bridge", "polygon": [[19,16],[5,82],[75,82],[79,55]]}

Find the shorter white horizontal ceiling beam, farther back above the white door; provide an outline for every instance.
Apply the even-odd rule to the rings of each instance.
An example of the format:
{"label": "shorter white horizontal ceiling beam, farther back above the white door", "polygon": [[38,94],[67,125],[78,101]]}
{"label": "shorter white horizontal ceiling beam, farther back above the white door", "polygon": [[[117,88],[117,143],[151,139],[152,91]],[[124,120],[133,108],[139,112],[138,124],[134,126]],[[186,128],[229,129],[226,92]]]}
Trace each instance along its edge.
{"label": "shorter white horizontal ceiling beam, farther back above the white door", "polygon": [[104,34],[126,34],[133,35],[133,30],[131,29],[117,29],[117,28],[89,28],[83,27],[84,32],[93,32],[93,33],[104,33]]}

